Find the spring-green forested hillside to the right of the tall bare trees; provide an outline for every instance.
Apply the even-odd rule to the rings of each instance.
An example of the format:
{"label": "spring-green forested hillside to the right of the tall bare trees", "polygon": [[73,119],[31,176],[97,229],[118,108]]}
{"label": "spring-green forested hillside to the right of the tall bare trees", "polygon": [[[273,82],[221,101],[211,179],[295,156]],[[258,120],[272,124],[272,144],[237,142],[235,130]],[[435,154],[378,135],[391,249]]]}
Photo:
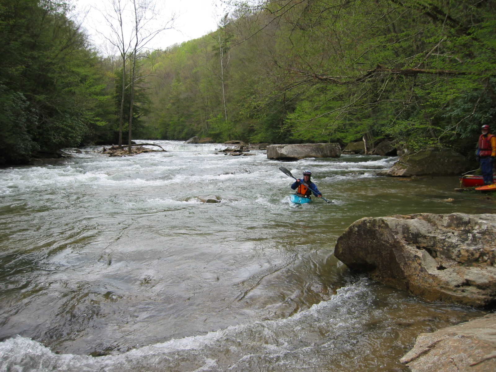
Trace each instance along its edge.
{"label": "spring-green forested hillside to the right of the tall bare trees", "polygon": [[150,134],[463,147],[495,119],[495,10],[494,1],[240,5],[217,32],[151,56]]}

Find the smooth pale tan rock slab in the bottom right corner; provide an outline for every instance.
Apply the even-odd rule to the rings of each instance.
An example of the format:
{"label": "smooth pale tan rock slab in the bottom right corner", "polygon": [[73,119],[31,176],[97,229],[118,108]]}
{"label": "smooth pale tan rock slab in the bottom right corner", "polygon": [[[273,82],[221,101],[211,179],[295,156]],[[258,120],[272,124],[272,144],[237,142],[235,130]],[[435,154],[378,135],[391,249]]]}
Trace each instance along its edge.
{"label": "smooth pale tan rock slab in the bottom right corner", "polygon": [[420,334],[401,363],[412,372],[496,371],[496,314]]}

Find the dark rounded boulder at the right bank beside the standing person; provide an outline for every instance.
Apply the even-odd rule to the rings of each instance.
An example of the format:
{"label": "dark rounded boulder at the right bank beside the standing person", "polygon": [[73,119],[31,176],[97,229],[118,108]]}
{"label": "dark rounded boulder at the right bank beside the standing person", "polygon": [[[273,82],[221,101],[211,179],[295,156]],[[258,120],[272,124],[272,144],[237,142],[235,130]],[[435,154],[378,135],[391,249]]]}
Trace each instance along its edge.
{"label": "dark rounded boulder at the right bank beside the standing person", "polygon": [[403,155],[394,165],[377,173],[378,176],[454,176],[470,170],[472,164],[451,149],[427,149]]}

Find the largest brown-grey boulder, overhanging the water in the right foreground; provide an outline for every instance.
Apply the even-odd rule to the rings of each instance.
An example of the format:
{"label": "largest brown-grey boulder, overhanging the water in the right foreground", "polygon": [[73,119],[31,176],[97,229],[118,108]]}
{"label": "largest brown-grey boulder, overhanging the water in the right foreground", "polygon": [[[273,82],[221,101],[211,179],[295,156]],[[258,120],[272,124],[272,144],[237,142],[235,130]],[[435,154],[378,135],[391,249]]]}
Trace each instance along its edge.
{"label": "largest brown-grey boulder, overhanging the water in the right foreground", "polygon": [[427,301],[492,308],[496,300],[496,214],[366,217],[338,238],[350,269]]}

